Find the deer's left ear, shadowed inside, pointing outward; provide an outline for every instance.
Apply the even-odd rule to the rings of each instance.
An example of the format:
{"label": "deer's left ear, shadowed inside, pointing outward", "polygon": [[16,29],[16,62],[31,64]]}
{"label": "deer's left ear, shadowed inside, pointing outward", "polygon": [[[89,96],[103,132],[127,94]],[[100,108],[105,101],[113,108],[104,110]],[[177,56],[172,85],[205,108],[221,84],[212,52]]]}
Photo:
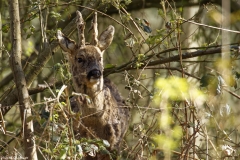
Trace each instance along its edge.
{"label": "deer's left ear, shadowed inside, pointing outward", "polygon": [[64,34],[60,30],[57,31],[57,39],[60,47],[65,52],[71,54],[73,53],[73,51],[76,50],[77,48],[76,43],[73,40],[69,39],[68,37],[64,36]]}

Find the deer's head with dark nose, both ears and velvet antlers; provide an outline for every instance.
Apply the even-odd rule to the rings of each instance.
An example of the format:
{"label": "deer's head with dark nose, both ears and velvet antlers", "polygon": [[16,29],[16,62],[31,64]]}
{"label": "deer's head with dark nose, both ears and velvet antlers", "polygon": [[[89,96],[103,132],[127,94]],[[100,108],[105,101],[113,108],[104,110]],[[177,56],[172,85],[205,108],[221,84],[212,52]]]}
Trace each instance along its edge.
{"label": "deer's head with dark nose, both ears and velvet antlers", "polygon": [[60,30],[57,31],[57,38],[63,51],[68,52],[75,91],[91,95],[103,89],[103,53],[112,43],[115,29],[110,25],[98,38],[97,13],[95,12],[90,28],[93,30],[92,42],[86,44],[85,22],[79,11],[76,14],[79,43],[76,44],[64,36]]}

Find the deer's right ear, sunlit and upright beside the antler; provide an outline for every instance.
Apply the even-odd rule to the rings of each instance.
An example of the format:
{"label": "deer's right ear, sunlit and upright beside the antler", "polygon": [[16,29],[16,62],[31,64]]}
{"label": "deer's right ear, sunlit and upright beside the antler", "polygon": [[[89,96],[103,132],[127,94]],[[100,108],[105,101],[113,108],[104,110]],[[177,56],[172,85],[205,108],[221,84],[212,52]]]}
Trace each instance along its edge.
{"label": "deer's right ear, sunlit and upright beside the antler", "polygon": [[111,25],[105,31],[102,32],[98,42],[98,47],[100,48],[101,51],[107,49],[107,47],[112,43],[114,32],[115,29]]}

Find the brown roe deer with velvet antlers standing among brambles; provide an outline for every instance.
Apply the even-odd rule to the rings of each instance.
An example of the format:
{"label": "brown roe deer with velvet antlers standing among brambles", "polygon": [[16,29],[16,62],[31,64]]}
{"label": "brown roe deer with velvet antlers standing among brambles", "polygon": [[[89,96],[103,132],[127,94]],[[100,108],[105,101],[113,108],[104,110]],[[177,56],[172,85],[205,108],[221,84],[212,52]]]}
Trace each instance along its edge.
{"label": "brown roe deer with velvet antlers standing among brambles", "polygon": [[[82,95],[71,99],[71,107],[81,113],[81,120],[77,127],[74,123],[74,130],[80,137],[105,139],[110,143],[110,150],[118,150],[128,127],[129,109],[124,107],[126,105],[115,86],[103,78],[103,53],[112,43],[115,29],[110,25],[98,39],[95,12],[91,26],[93,39],[91,44],[86,44],[85,22],[82,14],[76,13],[78,45],[61,31],[57,32],[61,48],[69,53],[74,90]],[[99,156],[96,159],[108,158]]]}

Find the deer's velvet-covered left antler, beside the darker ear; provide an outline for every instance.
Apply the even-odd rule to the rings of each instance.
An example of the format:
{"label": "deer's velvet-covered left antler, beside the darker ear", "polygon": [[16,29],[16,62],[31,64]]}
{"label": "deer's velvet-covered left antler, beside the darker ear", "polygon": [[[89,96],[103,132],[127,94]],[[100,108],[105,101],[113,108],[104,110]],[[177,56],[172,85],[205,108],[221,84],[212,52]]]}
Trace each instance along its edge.
{"label": "deer's velvet-covered left antler, beside the darker ear", "polygon": [[76,11],[76,14],[77,14],[76,23],[77,23],[78,39],[79,39],[78,47],[84,47],[85,46],[85,37],[84,37],[85,24],[84,24],[84,20],[82,18],[81,12]]}

